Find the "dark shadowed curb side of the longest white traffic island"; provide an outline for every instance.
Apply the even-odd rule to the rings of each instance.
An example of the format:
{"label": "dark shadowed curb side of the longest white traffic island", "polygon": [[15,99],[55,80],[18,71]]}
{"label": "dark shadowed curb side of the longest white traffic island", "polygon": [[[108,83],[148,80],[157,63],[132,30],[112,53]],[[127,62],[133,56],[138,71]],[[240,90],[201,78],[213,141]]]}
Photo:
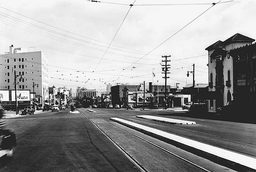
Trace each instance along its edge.
{"label": "dark shadowed curb side of the longest white traffic island", "polygon": [[[114,122],[117,122],[117,123],[120,123],[120,124],[122,124],[122,125],[124,125],[126,127],[132,128],[132,129],[134,129],[134,130],[136,130],[138,132],[141,132],[141,133],[144,133],[144,134],[149,135],[151,137],[154,137],[156,139],[159,139],[159,140],[161,140],[163,142],[166,142],[166,143],[169,143],[171,145],[174,145],[174,146],[176,146],[178,148],[181,148],[181,149],[183,149],[185,151],[191,152],[192,154],[201,156],[201,157],[203,157],[205,159],[208,159],[208,160],[210,160],[212,162],[218,163],[219,165],[231,168],[231,169],[233,169],[235,171],[247,172],[247,171],[255,171],[256,170],[256,169],[247,167],[245,165],[242,165],[242,164],[240,164],[238,162],[234,162],[234,161],[231,161],[231,160],[219,157],[219,156],[211,154],[209,152],[206,152],[206,151],[203,151],[203,150],[199,150],[197,148],[193,148],[192,146],[189,146],[189,145],[177,142],[175,140],[163,137],[161,135],[152,133],[150,131],[146,131],[146,130],[144,130],[142,128],[138,128],[138,127],[132,126],[131,124],[127,124],[127,123],[124,123],[122,121],[118,121],[118,120],[116,120],[114,118],[110,118],[110,120],[112,120]],[[149,127],[149,128],[151,128],[151,127]]]}

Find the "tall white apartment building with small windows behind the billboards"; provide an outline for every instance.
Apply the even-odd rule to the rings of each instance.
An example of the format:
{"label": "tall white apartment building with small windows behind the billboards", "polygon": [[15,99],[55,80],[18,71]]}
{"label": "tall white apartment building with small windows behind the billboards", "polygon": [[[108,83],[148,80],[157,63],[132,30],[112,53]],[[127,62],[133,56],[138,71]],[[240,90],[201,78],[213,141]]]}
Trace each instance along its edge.
{"label": "tall white apartment building with small windows behind the billboards", "polygon": [[[10,46],[10,51],[0,55],[0,89],[14,90],[14,71],[17,77],[17,90],[30,90],[33,92],[33,82],[38,84],[34,87],[36,95],[42,96],[42,99],[48,100],[48,57],[42,51],[34,51],[34,48],[28,48],[30,52],[22,52],[21,48]],[[21,51],[21,52],[19,52]]]}

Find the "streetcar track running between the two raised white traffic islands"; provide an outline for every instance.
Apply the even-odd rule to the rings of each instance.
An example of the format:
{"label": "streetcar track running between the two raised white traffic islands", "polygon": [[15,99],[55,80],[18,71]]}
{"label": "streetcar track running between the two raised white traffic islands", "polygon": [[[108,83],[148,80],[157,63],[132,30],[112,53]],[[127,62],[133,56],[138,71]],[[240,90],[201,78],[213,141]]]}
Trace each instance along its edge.
{"label": "streetcar track running between the two raised white traffic islands", "polygon": [[[108,114],[105,114],[105,115],[110,115],[110,114],[108,113]],[[117,116],[114,116],[114,115],[110,115],[110,116],[112,116],[112,117],[117,117]],[[123,116],[123,117],[126,117],[126,118],[127,118],[127,116],[125,116],[125,115],[120,115],[120,114],[119,114],[118,116]],[[218,135],[213,135],[213,134],[208,134],[208,133],[193,131],[193,130],[191,130],[191,129],[175,127],[175,126],[171,126],[170,124],[163,124],[163,123],[161,123],[161,122],[156,122],[156,121],[147,120],[147,119],[143,119],[143,118],[137,118],[137,117],[129,117],[129,118],[133,118],[133,119],[135,119],[135,120],[137,120],[137,121],[147,121],[147,122],[150,122],[150,123],[160,124],[160,125],[162,125],[162,126],[168,126],[168,127],[172,127],[172,128],[182,129],[182,130],[185,130],[185,131],[190,131],[190,132],[194,132],[194,133],[209,135],[209,136],[212,136],[212,137],[222,138],[222,139],[231,140],[231,141],[234,141],[234,142],[240,142],[240,143],[244,143],[244,144],[249,144],[249,145],[254,145],[254,146],[256,146],[256,144],[254,144],[254,143],[249,143],[249,142],[244,142],[244,141],[240,141],[240,140],[225,138],[225,137],[218,136]],[[174,132],[169,132],[169,133],[174,133]],[[238,153],[240,153],[240,154],[244,154],[244,155],[256,157],[256,155],[252,155],[252,154],[249,154],[249,153],[246,153],[246,152],[242,152],[242,151],[239,151],[239,150],[227,148],[227,147],[225,147],[225,146],[221,146],[221,145],[217,145],[217,144],[214,144],[214,143],[206,142],[206,141],[199,140],[199,139],[196,139],[196,138],[193,138],[193,137],[189,137],[189,136],[186,136],[186,135],[182,135],[182,134],[178,134],[178,133],[174,133],[174,134],[179,135],[179,136],[181,136],[181,137],[188,138],[188,139],[196,140],[196,141],[201,142],[201,143],[206,143],[206,144],[209,144],[209,145],[217,146],[217,147],[219,147],[219,148],[223,148],[223,149],[230,150],[230,151],[233,151],[233,152],[238,152]]]}

